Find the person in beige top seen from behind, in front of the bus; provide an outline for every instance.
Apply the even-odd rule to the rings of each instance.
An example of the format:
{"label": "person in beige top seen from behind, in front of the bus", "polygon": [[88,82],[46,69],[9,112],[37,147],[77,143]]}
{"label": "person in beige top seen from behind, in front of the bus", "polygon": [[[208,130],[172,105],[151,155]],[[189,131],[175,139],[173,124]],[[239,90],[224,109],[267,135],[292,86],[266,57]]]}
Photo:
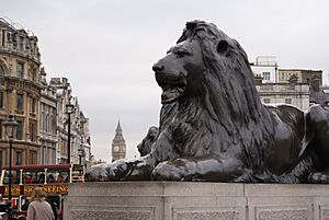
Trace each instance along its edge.
{"label": "person in beige top seen from behind, in front of the bus", "polygon": [[31,196],[31,204],[27,208],[26,220],[54,220],[52,206],[46,201],[46,194],[42,188],[35,188]]}

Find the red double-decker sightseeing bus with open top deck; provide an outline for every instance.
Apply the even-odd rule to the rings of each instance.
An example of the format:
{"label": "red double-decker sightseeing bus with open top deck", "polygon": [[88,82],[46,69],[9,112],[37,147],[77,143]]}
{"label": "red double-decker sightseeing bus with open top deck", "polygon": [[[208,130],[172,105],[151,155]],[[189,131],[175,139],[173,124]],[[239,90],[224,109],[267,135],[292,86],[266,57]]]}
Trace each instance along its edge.
{"label": "red double-decker sightseeing bus with open top deck", "polygon": [[[83,182],[84,170],[77,164],[14,165],[12,173],[12,208],[18,212],[27,210],[32,192],[42,187],[47,199],[63,209],[63,196],[68,194],[68,184]],[[3,167],[0,180],[2,201],[8,200],[9,170]]]}

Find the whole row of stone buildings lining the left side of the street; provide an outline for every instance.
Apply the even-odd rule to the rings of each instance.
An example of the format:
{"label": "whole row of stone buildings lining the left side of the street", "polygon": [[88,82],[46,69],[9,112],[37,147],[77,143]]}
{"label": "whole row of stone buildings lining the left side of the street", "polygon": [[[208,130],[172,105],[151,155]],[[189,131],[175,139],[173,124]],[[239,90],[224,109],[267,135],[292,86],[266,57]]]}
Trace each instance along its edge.
{"label": "whole row of stone buildings lining the left side of the street", "polygon": [[13,165],[56,164],[68,161],[68,115],[71,103],[71,163],[91,159],[89,118],[72,96],[66,78],[52,78],[41,68],[37,37],[0,18],[0,166],[9,164],[9,142],[2,123],[13,115],[18,121],[13,141]]}

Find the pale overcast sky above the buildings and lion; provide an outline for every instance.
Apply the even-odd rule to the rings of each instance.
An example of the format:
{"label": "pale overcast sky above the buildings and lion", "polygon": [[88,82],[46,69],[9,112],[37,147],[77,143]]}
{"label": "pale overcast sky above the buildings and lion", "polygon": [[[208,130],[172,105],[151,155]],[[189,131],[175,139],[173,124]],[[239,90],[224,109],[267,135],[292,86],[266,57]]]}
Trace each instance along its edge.
{"label": "pale overcast sky above the buildings and lion", "polygon": [[92,153],[111,160],[120,118],[128,158],[151,125],[160,93],[152,63],[204,20],[236,38],[252,61],[275,56],[279,68],[329,70],[327,0],[0,0],[7,16],[39,39],[48,80],[69,79],[90,118]]}

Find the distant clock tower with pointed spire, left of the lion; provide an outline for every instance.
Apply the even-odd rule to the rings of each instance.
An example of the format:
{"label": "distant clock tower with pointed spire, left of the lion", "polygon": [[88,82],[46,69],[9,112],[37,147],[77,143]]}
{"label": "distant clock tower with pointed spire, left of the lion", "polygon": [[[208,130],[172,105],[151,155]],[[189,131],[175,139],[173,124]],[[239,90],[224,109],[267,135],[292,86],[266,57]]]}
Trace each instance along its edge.
{"label": "distant clock tower with pointed spire, left of the lion", "polygon": [[122,135],[120,121],[115,129],[115,137],[112,141],[112,162],[126,157],[126,141]]}

